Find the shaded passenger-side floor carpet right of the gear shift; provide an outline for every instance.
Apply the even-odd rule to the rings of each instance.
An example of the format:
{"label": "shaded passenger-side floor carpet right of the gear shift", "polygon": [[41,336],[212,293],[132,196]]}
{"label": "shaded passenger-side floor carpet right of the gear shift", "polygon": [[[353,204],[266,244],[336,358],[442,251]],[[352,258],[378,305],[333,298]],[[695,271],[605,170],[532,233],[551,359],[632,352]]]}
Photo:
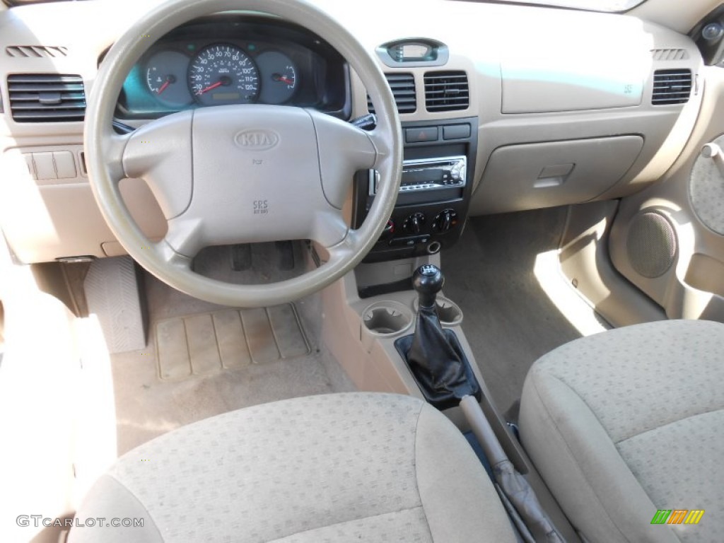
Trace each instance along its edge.
{"label": "shaded passenger-side floor carpet right of the gear shift", "polygon": [[536,257],[557,249],[565,216],[565,208],[553,208],[475,217],[442,253],[445,295],[462,308],[492,400],[510,418],[531,364],[581,337],[534,275]]}

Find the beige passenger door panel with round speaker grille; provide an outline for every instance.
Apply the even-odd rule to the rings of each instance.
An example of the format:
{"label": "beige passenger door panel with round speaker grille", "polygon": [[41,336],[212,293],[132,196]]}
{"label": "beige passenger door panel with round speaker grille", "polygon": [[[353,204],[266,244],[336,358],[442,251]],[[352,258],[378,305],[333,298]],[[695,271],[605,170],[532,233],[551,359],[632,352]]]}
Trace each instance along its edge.
{"label": "beige passenger door panel with round speaker grille", "polygon": [[[724,321],[724,70],[700,72],[704,98],[689,143],[662,180],[624,198],[610,232],[613,265],[670,319]],[[722,161],[720,164],[724,164]]]}

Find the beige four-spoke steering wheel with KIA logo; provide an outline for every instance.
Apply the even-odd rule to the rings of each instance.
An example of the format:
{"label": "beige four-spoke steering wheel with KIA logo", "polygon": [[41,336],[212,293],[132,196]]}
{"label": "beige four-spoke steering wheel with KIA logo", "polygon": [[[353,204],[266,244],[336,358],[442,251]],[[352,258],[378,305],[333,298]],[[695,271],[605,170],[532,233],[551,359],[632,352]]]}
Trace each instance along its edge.
{"label": "beige four-spoke steering wheel with KIA logo", "polygon": [[[282,17],[326,40],[374,101],[374,130],[313,109],[244,104],[181,111],[117,134],[111,123],[120,90],[153,38],[227,10]],[[303,0],[172,0],[143,15],[98,70],[84,145],[93,195],[130,256],[177,290],[238,307],[303,298],[353,269],[392,214],[403,149],[395,102],[375,59],[340,23]],[[364,223],[353,230],[342,204],[354,172],[369,168],[379,172],[379,188]],[[126,177],[145,180],[159,202],[168,223],[160,242],[148,240],[125,206],[119,182]],[[192,270],[193,257],[206,246],[276,240],[313,240],[326,248],[327,262],[265,285],[232,285]]]}

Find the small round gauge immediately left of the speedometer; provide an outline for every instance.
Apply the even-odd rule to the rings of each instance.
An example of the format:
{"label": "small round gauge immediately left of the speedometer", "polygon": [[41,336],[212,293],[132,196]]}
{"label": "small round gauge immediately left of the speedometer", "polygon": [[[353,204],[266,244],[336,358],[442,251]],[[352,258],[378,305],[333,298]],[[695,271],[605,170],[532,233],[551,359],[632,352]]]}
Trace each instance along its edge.
{"label": "small round gauge immediately left of the speedometer", "polygon": [[186,84],[190,59],[177,51],[153,54],[146,63],[146,83],[156,99],[167,106],[188,106],[193,102]]}

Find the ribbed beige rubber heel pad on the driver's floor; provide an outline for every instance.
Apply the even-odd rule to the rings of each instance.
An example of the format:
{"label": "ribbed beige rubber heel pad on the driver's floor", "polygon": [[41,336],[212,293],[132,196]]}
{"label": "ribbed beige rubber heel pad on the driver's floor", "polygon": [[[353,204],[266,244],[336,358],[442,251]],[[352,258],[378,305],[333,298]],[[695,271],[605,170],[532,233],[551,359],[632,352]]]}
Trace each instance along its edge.
{"label": "ribbed beige rubber heel pad on the driver's floor", "polygon": [[207,375],[310,353],[292,304],[166,319],[156,323],[155,334],[161,379]]}

